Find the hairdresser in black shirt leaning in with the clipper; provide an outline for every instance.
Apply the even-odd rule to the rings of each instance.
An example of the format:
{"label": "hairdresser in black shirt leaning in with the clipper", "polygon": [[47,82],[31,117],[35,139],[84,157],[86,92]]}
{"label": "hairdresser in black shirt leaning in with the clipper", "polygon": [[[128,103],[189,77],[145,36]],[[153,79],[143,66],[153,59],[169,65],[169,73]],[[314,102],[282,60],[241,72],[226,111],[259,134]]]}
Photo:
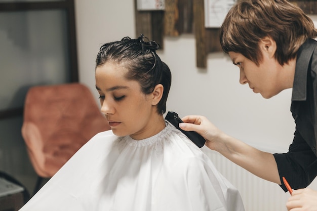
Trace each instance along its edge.
{"label": "hairdresser in black shirt leaning in with the clipper", "polygon": [[255,149],[216,128],[206,117],[189,115],[179,126],[196,131],[206,146],[252,174],[287,191],[288,210],[317,210],[317,191],[306,188],[317,175],[317,31],[312,20],[287,0],[242,0],[228,12],[220,43],[240,69],[240,83],[271,98],[292,88],[296,128],[287,153]]}

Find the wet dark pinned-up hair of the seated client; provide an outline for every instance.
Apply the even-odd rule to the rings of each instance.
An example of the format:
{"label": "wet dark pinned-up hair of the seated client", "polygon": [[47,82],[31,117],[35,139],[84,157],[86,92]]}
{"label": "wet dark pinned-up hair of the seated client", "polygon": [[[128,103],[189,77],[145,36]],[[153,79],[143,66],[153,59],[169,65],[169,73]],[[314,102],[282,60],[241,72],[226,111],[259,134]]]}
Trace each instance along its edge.
{"label": "wet dark pinned-up hair of the seated client", "polygon": [[144,94],[153,92],[156,85],[164,87],[163,96],[157,104],[157,112],[166,112],[166,101],[171,87],[170,68],[157,56],[160,46],[143,34],[137,39],[126,36],[121,41],[103,44],[96,58],[96,68],[111,61],[128,69],[126,78],[140,83]]}

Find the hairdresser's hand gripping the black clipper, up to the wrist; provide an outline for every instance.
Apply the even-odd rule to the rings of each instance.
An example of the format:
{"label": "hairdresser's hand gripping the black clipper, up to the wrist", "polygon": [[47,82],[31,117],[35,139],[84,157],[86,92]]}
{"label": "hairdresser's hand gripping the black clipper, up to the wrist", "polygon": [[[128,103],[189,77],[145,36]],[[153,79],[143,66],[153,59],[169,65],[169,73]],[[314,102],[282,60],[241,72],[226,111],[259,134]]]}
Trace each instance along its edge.
{"label": "hairdresser's hand gripping the black clipper, up to the wrist", "polygon": [[184,131],[195,131],[206,139],[206,146],[212,150],[217,150],[217,142],[221,142],[224,135],[213,123],[205,116],[185,116],[182,118],[185,123],[180,123],[179,127]]}

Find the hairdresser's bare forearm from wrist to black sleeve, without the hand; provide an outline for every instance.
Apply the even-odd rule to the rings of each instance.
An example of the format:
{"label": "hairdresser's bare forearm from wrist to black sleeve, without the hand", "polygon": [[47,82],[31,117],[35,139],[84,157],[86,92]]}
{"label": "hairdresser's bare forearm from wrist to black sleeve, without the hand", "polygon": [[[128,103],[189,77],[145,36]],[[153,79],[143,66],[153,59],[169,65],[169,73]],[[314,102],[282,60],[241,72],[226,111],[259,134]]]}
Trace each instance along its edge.
{"label": "hairdresser's bare forearm from wrist to black sleeve, without the hand", "polygon": [[[252,174],[264,180],[281,184],[278,166],[271,153],[260,151],[226,134],[221,134],[218,138],[222,141],[217,141],[216,146],[213,145],[214,150]],[[207,146],[209,144],[206,143]]]}

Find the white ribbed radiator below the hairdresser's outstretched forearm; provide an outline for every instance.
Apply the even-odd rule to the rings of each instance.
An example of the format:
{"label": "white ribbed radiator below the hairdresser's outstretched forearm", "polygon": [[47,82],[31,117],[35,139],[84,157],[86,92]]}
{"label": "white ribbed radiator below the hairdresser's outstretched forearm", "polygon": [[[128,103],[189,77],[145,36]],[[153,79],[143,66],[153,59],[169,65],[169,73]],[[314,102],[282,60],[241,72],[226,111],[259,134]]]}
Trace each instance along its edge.
{"label": "white ribbed radiator below the hairdresser's outstretched forearm", "polygon": [[206,146],[203,151],[218,171],[240,191],[246,211],[287,210],[285,204],[290,196],[289,192],[285,193],[279,185],[254,176]]}

